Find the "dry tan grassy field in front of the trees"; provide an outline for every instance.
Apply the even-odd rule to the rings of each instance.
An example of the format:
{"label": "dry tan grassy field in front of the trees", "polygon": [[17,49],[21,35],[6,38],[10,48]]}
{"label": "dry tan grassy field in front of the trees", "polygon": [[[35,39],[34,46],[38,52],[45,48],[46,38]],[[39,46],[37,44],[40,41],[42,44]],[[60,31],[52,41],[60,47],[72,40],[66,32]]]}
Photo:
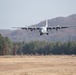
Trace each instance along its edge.
{"label": "dry tan grassy field in front of the trees", "polygon": [[0,75],[76,75],[76,56],[0,56]]}

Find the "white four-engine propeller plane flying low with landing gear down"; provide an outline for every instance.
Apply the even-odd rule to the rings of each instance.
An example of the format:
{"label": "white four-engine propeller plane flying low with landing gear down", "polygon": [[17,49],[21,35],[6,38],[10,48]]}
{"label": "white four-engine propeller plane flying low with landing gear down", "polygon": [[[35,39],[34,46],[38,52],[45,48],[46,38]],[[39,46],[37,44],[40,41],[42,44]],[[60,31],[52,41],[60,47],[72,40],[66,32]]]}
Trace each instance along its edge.
{"label": "white four-engine propeller plane flying low with landing gear down", "polygon": [[57,31],[58,29],[68,28],[68,26],[59,26],[58,25],[58,26],[49,27],[48,20],[46,20],[46,25],[44,27],[13,27],[13,28],[21,28],[21,29],[30,30],[30,31],[39,30],[40,35],[43,35],[43,34],[49,35],[48,30],[56,30]]}

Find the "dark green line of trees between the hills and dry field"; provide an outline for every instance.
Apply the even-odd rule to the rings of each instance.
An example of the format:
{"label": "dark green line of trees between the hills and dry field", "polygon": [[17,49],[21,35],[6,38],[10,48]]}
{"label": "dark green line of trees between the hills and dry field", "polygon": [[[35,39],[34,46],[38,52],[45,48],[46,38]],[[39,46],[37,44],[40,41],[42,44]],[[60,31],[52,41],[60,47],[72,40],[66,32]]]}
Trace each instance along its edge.
{"label": "dark green line of trees between the hills and dry field", "polygon": [[0,34],[0,55],[76,55],[76,41],[68,42],[12,42]]}

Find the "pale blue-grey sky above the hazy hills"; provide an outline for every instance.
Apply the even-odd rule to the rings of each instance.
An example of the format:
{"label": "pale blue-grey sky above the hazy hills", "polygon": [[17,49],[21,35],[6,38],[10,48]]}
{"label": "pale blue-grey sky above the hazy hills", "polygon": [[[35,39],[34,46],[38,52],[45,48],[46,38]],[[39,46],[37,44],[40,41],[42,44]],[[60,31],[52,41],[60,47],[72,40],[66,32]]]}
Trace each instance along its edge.
{"label": "pale blue-grey sky above the hazy hills", "polygon": [[76,14],[76,0],[0,0],[0,29]]}

